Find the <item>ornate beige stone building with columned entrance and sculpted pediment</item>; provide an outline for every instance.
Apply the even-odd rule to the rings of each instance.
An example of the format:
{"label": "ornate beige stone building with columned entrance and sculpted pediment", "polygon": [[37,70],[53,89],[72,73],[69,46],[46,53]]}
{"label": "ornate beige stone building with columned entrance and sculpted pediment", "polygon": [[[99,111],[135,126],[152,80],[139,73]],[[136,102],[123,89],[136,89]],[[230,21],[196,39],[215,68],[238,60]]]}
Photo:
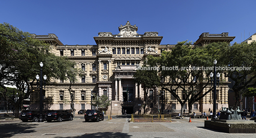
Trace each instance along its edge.
{"label": "ornate beige stone building with columned entrance and sculpted pediment", "polygon": [[[77,76],[78,81],[72,86],[77,111],[95,108],[90,103],[91,94],[96,93],[99,96],[106,95],[112,101],[107,114],[122,114],[122,110],[127,110],[128,113],[138,112],[143,106],[144,90],[141,84],[134,82],[133,75],[136,67],[144,63],[147,55],[160,56],[161,51],[169,51],[175,46],[160,45],[163,37],[158,36],[158,32],[138,34],[138,27],[131,25],[129,21],[118,29],[120,33],[117,35],[111,32],[99,32],[98,36],[94,37],[96,45],[63,45],[54,34],[32,34],[35,39],[50,44],[55,55],[67,56],[76,63],[77,68],[84,71],[84,75]],[[231,42],[234,38],[228,37],[228,33],[203,33],[195,45],[204,46],[217,41]],[[221,106],[228,107],[228,79],[222,78],[222,80],[224,82],[217,88],[218,109]],[[53,97],[53,105],[50,109],[70,109],[70,105],[65,102],[71,99],[68,86],[69,82],[56,79],[52,79],[52,82],[46,86],[45,96]],[[164,92],[164,98],[159,102],[160,91],[161,89],[156,87],[149,90],[149,96],[152,98],[147,106],[148,113],[156,113],[158,107],[161,108],[161,104],[165,109],[180,111],[179,102],[168,92]],[[178,94],[181,95],[181,91],[178,91]],[[213,107],[212,102],[212,92],[210,92],[194,104],[193,110],[208,110]]]}

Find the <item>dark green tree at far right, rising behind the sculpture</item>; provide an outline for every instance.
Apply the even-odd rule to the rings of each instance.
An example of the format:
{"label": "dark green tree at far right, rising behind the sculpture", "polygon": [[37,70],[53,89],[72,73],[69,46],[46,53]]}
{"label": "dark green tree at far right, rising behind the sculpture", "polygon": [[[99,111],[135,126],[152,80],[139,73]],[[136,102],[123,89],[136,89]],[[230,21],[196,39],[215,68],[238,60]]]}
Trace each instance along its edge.
{"label": "dark green tree at far right, rising behind the sculpture", "polygon": [[218,65],[229,68],[220,72],[234,81],[231,89],[235,92],[234,108],[237,108],[240,95],[256,84],[256,43],[235,43],[232,46],[227,43],[213,43],[206,47],[213,55],[217,55]]}

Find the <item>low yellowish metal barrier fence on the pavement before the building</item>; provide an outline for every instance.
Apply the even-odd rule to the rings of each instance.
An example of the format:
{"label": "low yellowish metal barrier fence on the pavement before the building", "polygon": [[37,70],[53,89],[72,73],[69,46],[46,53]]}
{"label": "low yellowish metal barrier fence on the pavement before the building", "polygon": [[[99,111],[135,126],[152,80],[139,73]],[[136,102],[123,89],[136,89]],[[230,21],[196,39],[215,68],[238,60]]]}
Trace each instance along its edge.
{"label": "low yellowish metal barrier fence on the pavement before the building", "polygon": [[132,122],[154,122],[154,121],[165,121],[171,122],[171,115],[162,115],[162,114],[144,114],[144,115],[136,115],[131,114]]}

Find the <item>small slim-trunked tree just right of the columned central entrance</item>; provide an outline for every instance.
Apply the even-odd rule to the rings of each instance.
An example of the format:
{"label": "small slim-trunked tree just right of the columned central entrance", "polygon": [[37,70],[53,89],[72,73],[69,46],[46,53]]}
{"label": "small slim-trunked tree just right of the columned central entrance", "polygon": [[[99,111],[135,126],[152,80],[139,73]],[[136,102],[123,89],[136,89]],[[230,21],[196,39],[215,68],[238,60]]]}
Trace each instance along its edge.
{"label": "small slim-trunked tree just right of the columned central entrance", "polygon": [[[141,68],[151,68],[144,64]],[[134,74],[134,80],[138,84],[143,84],[144,86],[144,114],[146,113],[146,106],[148,104],[148,94],[149,89],[152,87],[158,87],[160,84],[160,77],[158,76],[157,70],[138,70]]]}

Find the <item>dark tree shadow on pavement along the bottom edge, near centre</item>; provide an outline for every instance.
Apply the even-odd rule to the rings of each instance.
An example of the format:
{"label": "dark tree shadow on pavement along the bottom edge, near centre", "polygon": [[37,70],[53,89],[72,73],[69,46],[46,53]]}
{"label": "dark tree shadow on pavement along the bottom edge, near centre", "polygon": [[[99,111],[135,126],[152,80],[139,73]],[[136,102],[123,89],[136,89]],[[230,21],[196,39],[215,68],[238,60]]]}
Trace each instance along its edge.
{"label": "dark tree shadow on pavement along the bottom edge, near centre", "polygon": [[54,137],[54,138],[130,138],[132,135],[121,132],[96,132],[96,133],[85,133],[81,136],[76,137]]}

